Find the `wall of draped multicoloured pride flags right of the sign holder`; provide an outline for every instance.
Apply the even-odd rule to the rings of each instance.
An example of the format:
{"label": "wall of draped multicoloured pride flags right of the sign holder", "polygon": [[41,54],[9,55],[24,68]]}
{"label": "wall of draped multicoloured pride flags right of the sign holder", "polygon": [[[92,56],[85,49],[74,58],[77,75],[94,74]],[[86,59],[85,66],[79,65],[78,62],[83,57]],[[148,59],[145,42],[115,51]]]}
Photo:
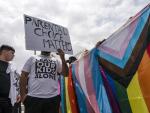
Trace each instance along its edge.
{"label": "wall of draped multicoloured pride flags right of the sign holder", "polygon": [[150,113],[150,4],[61,82],[62,113]]}

